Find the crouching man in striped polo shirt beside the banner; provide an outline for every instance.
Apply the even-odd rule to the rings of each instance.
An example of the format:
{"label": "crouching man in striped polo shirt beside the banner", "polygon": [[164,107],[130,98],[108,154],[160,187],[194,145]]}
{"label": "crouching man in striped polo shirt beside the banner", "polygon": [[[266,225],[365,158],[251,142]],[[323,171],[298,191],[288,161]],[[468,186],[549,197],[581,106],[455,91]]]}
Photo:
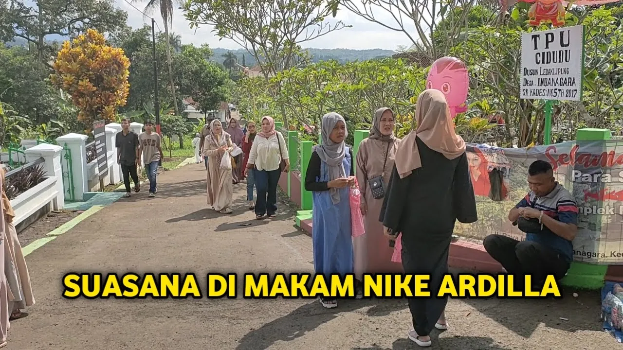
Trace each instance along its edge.
{"label": "crouching man in striped polo shirt beside the banner", "polygon": [[532,220],[538,232],[526,232],[523,242],[489,235],[483,245],[506,272],[522,282],[525,275],[531,275],[533,283],[541,286],[547,275],[559,280],[569,270],[572,242],[578,233],[578,206],[571,193],[556,182],[551,164],[546,161],[530,164],[528,184],[530,193],[510,210],[508,219],[513,224],[520,217]]}

